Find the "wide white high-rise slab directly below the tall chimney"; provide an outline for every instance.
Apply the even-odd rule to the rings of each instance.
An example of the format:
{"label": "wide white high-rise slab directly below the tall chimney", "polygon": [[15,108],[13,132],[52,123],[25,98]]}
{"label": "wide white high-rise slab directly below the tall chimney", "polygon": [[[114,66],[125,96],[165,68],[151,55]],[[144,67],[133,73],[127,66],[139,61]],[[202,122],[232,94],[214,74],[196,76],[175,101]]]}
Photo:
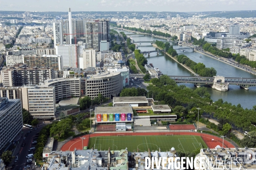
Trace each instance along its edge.
{"label": "wide white high-rise slab directly below the tall chimney", "polygon": [[75,44],[56,45],[56,54],[63,57],[63,67],[79,68],[79,47]]}

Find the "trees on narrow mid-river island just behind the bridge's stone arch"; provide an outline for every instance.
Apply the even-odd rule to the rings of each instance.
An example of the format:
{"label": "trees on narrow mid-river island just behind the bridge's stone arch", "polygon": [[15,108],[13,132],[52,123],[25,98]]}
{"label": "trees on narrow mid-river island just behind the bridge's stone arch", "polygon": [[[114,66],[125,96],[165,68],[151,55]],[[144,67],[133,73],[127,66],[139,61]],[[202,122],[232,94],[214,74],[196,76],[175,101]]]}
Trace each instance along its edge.
{"label": "trees on narrow mid-river island just behind the bridge's stone arch", "polygon": [[185,55],[181,54],[177,56],[177,61],[186,64],[188,67],[190,67],[193,71],[195,71],[196,74],[199,74],[203,77],[213,77],[216,76],[217,71],[215,68],[206,68],[205,65],[201,62],[196,63],[189,59],[189,57],[186,57]]}

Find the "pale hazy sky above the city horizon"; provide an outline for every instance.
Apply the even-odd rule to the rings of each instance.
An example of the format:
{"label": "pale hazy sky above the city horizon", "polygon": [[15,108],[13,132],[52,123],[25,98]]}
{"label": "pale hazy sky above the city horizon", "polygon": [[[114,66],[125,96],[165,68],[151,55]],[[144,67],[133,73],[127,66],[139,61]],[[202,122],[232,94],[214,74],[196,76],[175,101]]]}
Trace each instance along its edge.
{"label": "pale hazy sky above the city horizon", "polygon": [[256,0],[0,0],[0,11],[240,11]]}

